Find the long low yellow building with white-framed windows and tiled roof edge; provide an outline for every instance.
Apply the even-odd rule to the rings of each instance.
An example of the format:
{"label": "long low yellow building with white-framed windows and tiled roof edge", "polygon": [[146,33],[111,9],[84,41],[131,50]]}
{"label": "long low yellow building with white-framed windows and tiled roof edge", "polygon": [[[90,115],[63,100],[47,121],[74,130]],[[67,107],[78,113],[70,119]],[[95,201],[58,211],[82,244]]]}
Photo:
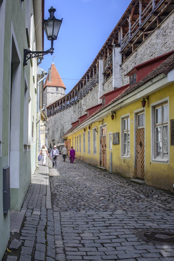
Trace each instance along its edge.
{"label": "long low yellow building with white-framed windows and tiled roof edge", "polygon": [[78,159],[174,192],[173,57],[65,133]]}

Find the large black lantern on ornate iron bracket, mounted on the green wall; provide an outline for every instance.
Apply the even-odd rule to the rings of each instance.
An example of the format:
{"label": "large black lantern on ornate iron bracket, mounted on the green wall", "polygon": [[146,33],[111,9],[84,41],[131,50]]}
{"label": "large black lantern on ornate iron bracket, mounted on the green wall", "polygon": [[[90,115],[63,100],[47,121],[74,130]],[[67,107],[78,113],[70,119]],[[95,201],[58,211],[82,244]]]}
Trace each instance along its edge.
{"label": "large black lantern on ornate iron bracket, mounted on the green wall", "polygon": [[57,35],[59,32],[59,29],[61,27],[62,19],[56,19],[54,17],[54,12],[56,11],[55,8],[51,7],[48,12],[50,13],[50,17],[43,21],[43,28],[45,30],[45,34],[47,36],[47,39],[51,41],[51,48],[47,51],[39,52],[39,51],[30,51],[28,49],[24,49],[24,55],[23,55],[23,66],[27,65],[27,61],[32,58],[36,57],[43,57],[43,55],[47,55],[50,53],[51,55],[54,52],[53,48],[53,41],[57,39]]}

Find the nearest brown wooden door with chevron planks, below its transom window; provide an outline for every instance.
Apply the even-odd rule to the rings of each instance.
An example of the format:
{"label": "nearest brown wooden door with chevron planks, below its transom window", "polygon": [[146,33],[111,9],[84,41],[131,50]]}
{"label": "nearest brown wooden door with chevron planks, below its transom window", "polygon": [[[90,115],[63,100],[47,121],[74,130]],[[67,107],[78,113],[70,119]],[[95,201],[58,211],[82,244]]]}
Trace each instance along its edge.
{"label": "nearest brown wooden door with chevron planks, below its transom window", "polygon": [[144,128],[136,132],[137,178],[144,179]]}

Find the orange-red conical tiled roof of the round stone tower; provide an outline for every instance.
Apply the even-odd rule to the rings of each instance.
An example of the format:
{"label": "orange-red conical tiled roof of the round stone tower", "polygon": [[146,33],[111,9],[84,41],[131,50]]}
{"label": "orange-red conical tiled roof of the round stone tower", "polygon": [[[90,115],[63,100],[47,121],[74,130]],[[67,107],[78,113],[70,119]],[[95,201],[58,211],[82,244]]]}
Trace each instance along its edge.
{"label": "orange-red conical tiled roof of the round stone tower", "polygon": [[47,75],[43,88],[45,88],[46,86],[57,86],[57,87],[63,87],[66,89],[66,87],[56,69],[56,66],[54,65],[53,62],[51,65],[51,82],[49,82],[48,79],[49,79],[49,74]]}

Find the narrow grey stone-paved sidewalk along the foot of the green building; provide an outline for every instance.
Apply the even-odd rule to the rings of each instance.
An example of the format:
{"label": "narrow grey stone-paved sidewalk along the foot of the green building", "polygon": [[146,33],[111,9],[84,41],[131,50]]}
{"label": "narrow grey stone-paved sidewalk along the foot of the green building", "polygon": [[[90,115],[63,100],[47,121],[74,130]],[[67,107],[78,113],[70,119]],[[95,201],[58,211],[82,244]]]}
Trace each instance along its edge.
{"label": "narrow grey stone-paved sidewalk along the foot of the green building", "polygon": [[39,162],[23,202],[25,221],[19,240],[10,240],[3,260],[55,260],[54,220],[51,205],[49,169]]}

